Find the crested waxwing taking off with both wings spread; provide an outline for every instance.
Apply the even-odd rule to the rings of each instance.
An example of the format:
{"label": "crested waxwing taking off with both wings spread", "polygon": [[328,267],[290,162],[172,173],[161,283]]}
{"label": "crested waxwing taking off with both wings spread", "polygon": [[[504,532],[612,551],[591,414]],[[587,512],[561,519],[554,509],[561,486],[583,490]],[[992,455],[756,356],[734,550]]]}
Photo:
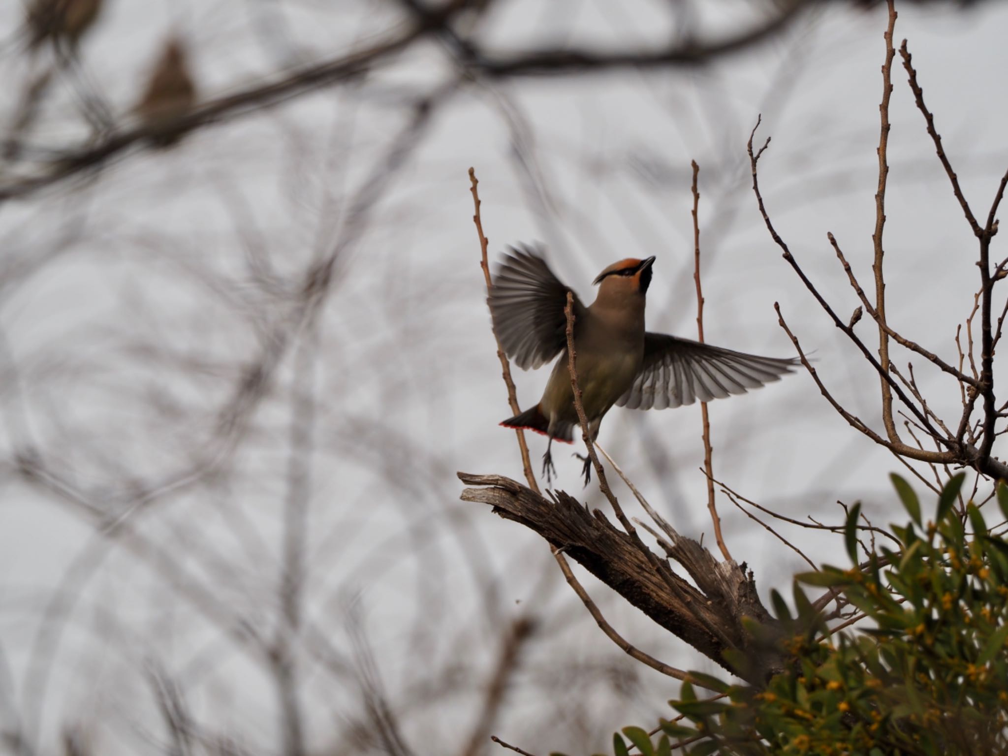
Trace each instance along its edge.
{"label": "crested waxwing taking off with both wings spread", "polygon": [[[644,326],[644,306],[655,258],[626,258],[593,281],[595,301],[574,295],[574,344],[578,385],[592,440],[613,407],[665,409],[743,394],[779,380],[795,358],[760,357],[667,334]],[[579,425],[566,357],[566,296],[570,287],[550,270],[537,246],[509,247],[497,265],[487,297],[494,332],[504,353],[522,370],[539,368],[556,355],[542,398],[500,424],[548,437],[542,456],[547,485],[556,474],[554,440],[574,443]],[[591,460],[585,463],[585,485]]]}

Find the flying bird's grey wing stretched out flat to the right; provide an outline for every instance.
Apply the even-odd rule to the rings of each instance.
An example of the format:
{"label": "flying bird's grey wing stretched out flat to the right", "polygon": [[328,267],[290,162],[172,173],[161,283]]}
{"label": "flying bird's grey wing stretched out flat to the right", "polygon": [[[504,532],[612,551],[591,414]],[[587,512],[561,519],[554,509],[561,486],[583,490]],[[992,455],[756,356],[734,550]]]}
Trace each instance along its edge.
{"label": "flying bird's grey wing stretched out flat to the right", "polygon": [[692,404],[698,399],[724,399],[779,380],[797,365],[797,359],[757,357],[688,339],[647,333],[640,371],[633,386],[616,405],[664,409]]}

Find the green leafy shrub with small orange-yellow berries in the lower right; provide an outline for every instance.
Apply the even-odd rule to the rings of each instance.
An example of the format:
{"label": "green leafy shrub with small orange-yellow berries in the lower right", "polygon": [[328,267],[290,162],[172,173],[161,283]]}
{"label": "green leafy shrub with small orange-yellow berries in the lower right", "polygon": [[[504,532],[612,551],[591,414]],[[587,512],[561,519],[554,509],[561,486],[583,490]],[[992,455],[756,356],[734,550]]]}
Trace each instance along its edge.
{"label": "green leafy shrub with small orange-yellow berries in the lower right", "polygon": [[[846,527],[849,570],[796,576],[796,616],[773,593],[780,628],[753,633],[779,643],[787,671],[765,687],[695,673],[722,692],[701,700],[683,683],[669,704],[680,717],[653,736],[626,728],[616,756],[707,754],[1008,753],[1008,544],[973,502],[957,507],[965,474],[941,491],[933,521],[902,478],[896,492],[910,521],[892,525],[895,550],[879,545],[858,564],[859,507]],[[1008,488],[997,501],[1008,518]],[[895,545],[895,541],[892,541]],[[830,633],[801,584],[840,592],[864,627]]]}

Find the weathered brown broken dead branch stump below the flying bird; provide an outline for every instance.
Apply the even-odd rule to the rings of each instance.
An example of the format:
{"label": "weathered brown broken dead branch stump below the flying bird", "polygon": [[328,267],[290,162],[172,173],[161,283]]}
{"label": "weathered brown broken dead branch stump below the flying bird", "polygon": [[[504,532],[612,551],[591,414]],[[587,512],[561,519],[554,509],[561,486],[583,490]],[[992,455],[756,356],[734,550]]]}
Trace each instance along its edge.
{"label": "weathered brown broken dead branch stump below the flying bird", "polygon": [[[743,625],[744,618],[763,626],[775,622],[760,602],[752,573],[744,563],[719,561],[666,523],[662,529],[670,542],[659,539],[659,543],[692,583],[672,572],[665,559],[659,559],[659,574],[641,547],[604,513],[589,512],[562,491],[550,492],[550,500],[499,475],[459,473],[459,479],[483,487],[465,489],[463,501],[489,504],[495,514],[534,530],[654,622],[730,672],[762,684],[768,675],[783,669],[781,654],[757,642]],[[726,651],[733,650],[739,653],[726,658]]]}

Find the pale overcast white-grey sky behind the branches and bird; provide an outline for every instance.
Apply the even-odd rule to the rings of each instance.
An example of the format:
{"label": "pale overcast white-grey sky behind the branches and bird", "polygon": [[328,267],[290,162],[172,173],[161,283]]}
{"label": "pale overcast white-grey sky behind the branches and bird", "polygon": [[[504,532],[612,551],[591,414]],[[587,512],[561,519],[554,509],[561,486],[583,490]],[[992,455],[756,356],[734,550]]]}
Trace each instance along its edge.
{"label": "pale overcast white-grey sky behind the branches and bird", "polygon": [[[15,5],[0,9],[3,36],[17,29]],[[276,38],[296,40],[302,55],[323,55],[384,28],[391,11],[364,5],[290,3],[289,28],[282,29],[269,18],[264,27],[237,0],[110,1],[84,47],[86,72],[116,111],[127,113],[159,40],[175,29],[188,40],[201,91],[210,97],[274,69],[271,55],[284,50]],[[965,194],[986,217],[1008,168],[1008,9],[978,5],[957,12],[901,8],[896,38],[909,39]],[[718,8],[711,28],[742,17],[742,4]],[[663,6],[644,1],[505,1],[495,14],[490,37],[507,47],[561,33],[602,44],[660,41],[669,33]],[[494,254],[510,243],[548,245],[554,270],[586,300],[593,296],[590,281],[606,265],[656,255],[648,326],[694,337],[689,160],[697,159],[708,341],[789,356],[773,311],[779,301],[837,398],[881,427],[877,378],[762,225],[745,141],[762,113],[758,139],[773,137],[760,163],[768,210],[804,270],[849,317],[856,297],[826,234],[836,235],[867,283],[884,25],[882,9],[832,3],[757,50],[708,68],[520,80],[470,88],[439,106],[366,230],[341,257],[308,360],[317,447],[307,612],[347,651],[346,607],[353,601],[362,607],[394,702],[422,682],[425,667],[444,669],[448,659],[485,669],[495,652],[485,642],[495,618],[503,622],[528,607],[541,614],[544,629],[495,731],[532,751],[574,751],[565,734],[584,723],[574,715],[544,722],[538,713],[536,697],[548,688],[540,678],[546,662],[605,657],[616,668],[634,666],[607,645],[553,574],[544,543],[479,505],[457,501],[456,471],[521,477],[514,435],[497,425],[509,412],[484,303],[467,169],[475,166],[481,181]],[[277,36],[263,36],[264,28]],[[22,81],[24,65],[11,44],[2,76]],[[20,376],[15,386],[7,373],[0,392],[8,431],[3,454],[33,437],[110,508],[129,500],[130,486],[192,464],[212,435],[236,371],[194,377],[151,355],[246,364],[256,354],[257,328],[276,324],[283,312],[249,283],[243,245],[255,240],[276,270],[290,272],[302,270],[313,250],[345,238],[348,208],[401,126],[400,94],[421,94],[452,75],[439,50],[427,45],[358,86],[206,129],[171,152],[130,155],[88,183],[0,208],[0,265],[9,266],[0,326],[8,367],[12,361]],[[978,287],[976,244],[905,79],[897,54],[889,321],[954,362],[955,325],[969,313]],[[4,112],[15,94],[11,88],[0,94]],[[74,113],[64,88],[37,141],[80,139]],[[48,260],[57,250],[62,254]],[[1008,256],[999,240],[992,254]],[[39,259],[45,264],[30,274],[9,272]],[[867,319],[859,333],[871,342]],[[236,613],[266,626],[275,609],[297,354],[284,361],[248,435],[221,453],[227,462],[219,478],[130,515],[138,531],[179,554],[192,581],[206,581]],[[896,356],[905,364],[905,353]],[[955,416],[958,387],[914,363],[930,405]],[[523,407],[537,400],[546,375],[516,371]],[[838,499],[861,499],[882,521],[902,517],[887,480],[898,463],[849,428],[808,376],[710,409],[716,476],[745,496],[797,518],[838,521]],[[600,443],[682,533],[711,538],[700,430],[696,406],[614,409]],[[530,438],[533,460],[544,444]],[[581,464],[563,452],[555,455],[557,486],[580,493]],[[27,722],[49,747],[64,723],[99,720],[106,723],[95,735],[103,751],[153,748],[162,736],[142,668],[155,656],[182,680],[198,718],[222,732],[241,732],[256,752],[274,750],[269,683],[220,640],[219,629],[194,619],[191,605],[128,547],[103,546],[73,506],[13,479],[3,493],[0,672],[9,675],[0,673],[6,697],[0,710],[10,704],[10,721]],[[622,485],[617,494],[630,498]],[[597,491],[584,496],[607,508]],[[734,555],[752,566],[764,594],[786,591],[789,577],[804,566],[800,558],[726,499],[719,507]],[[236,535],[236,523],[251,534]],[[844,558],[835,538],[787,533],[817,561]],[[190,549],[213,558],[201,561]],[[634,642],[669,663],[709,668],[607,589],[587,585]],[[76,598],[59,605],[60,592]],[[53,674],[39,698],[31,659],[45,656],[37,644],[45,637],[39,629],[53,623],[46,606],[66,610],[58,619],[70,631],[46,657]],[[425,624],[416,622],[421,616]],[[586,749],[604,747],[618,727],[653,722],[677,690],[655,673],[637,673],[643,686],[633,695],[613,692],[612,685],[584,688],[586,699],[598,697]],[[346,680],[307,677],[309,742],[322,747],[353,716],[359,694]],[[426,708],[407,711],[403,703],[402,717],[418,753],[421,743],[449,752],[437,749],[458,747],[457,727],[474,712],[472,691],[460,688],[456,698],[431,697]]]}

